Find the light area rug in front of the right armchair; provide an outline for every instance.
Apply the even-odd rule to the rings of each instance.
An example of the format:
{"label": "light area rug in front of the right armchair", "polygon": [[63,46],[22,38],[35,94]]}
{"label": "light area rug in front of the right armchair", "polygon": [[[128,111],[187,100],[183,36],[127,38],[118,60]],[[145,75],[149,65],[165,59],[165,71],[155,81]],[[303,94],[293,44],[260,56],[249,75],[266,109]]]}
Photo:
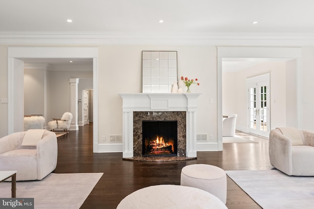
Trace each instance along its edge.
{"label": "light area rug in front of the right armchair", "polygon": [[314,208],[314,177],[288,176],[279,170],[226,173],[263,209]]}

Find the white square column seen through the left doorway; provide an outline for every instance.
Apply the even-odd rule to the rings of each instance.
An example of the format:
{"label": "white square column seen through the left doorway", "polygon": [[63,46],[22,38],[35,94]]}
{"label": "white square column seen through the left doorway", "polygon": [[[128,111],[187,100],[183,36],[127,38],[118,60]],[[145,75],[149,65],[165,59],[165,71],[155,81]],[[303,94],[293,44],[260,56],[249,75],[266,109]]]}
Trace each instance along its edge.
{"label": "white square column seen through the left doorway", "polygon": [[78,78],[70,78],[70,112],[73,115],[70,130],[78,130]]}

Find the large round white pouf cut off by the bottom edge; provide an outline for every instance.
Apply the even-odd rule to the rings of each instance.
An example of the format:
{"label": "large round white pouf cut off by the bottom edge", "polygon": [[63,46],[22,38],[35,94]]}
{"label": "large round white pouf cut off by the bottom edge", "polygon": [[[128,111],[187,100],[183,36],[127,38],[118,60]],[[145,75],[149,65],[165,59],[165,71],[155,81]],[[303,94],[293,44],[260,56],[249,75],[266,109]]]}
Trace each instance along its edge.
{"label": "large round white pouf cut off by the bottom edge", "polygon": [[221,200],[202,189],[180,185],[148,186],[134,191],[117,209],[227,209]]}

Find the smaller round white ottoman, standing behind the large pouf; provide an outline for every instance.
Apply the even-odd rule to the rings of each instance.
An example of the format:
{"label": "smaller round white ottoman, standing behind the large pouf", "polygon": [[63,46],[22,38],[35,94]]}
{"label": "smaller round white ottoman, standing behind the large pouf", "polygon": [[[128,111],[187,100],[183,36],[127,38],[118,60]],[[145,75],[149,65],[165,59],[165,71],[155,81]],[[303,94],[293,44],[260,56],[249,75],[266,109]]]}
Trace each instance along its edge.
{"label": "smaller round white ottoman, standing behind the large pouf", "polygon": [[227,202],[227,177],[223,169],[208,164],[186,165],[181,171],[181,185],[208,191]]}

